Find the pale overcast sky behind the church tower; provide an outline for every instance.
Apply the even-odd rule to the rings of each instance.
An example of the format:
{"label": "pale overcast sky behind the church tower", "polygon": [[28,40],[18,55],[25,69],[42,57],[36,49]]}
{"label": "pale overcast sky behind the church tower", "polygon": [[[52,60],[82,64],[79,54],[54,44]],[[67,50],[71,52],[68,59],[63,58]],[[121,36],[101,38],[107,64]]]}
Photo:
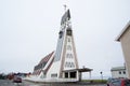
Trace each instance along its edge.
{"label": "pale overcast sky behind the church tower", "polygon": [[116,42],[130,20],[130,0],[0,0],[0,73],[32,72],[55,51],[64,4],[70,9],[79,67],[110,76],[123,66]]}

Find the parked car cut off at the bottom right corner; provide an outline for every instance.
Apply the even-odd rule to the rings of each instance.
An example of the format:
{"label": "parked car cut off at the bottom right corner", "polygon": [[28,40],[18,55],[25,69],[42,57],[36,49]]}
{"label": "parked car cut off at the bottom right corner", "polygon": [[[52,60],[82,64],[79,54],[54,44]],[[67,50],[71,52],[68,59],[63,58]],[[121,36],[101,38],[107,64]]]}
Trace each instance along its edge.
{"label": "parked car cut off at the bottom right corner", "polygon": [[128,78],[108,78],[107,86],[130,86]]}

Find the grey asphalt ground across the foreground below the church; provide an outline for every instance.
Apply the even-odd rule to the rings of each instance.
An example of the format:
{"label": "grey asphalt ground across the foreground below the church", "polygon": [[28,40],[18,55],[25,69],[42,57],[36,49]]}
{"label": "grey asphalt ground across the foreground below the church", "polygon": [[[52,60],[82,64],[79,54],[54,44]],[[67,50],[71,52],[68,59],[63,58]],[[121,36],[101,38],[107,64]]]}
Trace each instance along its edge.
{"label": "grey asphalt ground across the foreground below the church", "polygon": [[105,84],[89,83],[32,83],[23,81],[22,83],[13,83],[9,80],[0,80],[0,86],[106,86]]}

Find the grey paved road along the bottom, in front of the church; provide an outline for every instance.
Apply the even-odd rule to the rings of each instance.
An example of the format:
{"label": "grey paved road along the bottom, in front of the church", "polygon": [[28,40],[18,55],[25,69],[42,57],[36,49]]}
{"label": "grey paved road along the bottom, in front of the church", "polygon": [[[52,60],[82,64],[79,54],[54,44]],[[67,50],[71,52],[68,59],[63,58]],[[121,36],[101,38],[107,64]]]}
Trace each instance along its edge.
{"label": "grey paved road along the bottom, in front of the church", "polygon": [[38,84],[23,81],[23,83],[16,84],[9,80],[0,80],[0,86],[106,86],[106,85],[87,85],[87,84]]}

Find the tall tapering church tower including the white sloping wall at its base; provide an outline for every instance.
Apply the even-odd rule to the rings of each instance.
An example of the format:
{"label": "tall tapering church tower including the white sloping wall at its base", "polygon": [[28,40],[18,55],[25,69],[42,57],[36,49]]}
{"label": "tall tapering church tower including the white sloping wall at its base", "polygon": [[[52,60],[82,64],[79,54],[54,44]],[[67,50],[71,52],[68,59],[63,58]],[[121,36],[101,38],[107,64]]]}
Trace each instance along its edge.
{"label": "tall tapering church tower including the white sloping wall at its base", "polygon": [[77,77],[77,72],[68,73],[68,70],[78,69],[78,60],[74,42],[70,12],[67,10],[61,19],[61,29],[58,32],[57,46],[54,61],[51,67],[50,77],[67,78]]}

